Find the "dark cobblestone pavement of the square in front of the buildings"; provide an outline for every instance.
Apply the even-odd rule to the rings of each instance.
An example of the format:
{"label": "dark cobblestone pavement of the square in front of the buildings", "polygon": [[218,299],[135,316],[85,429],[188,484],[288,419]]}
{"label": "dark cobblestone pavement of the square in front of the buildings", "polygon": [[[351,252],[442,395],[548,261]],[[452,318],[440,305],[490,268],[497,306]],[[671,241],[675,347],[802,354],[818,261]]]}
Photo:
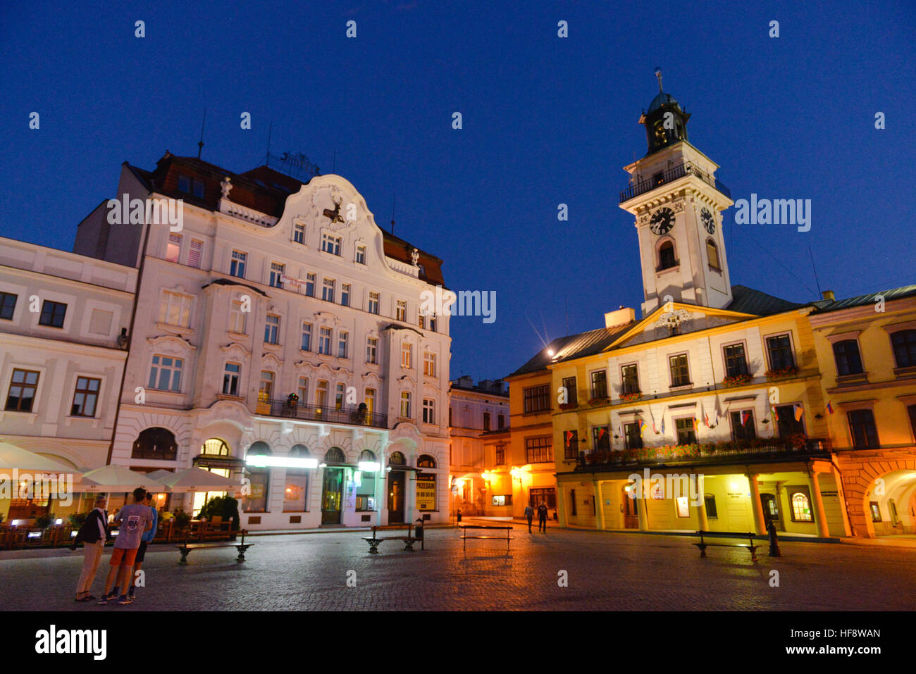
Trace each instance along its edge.
{"label": "dark cobblestone pavement of the square in front of the buildings", "polygon": [[[693,538],[551,529],[513,530],[511,552],[498,540],[468,540],[453,528],[428,529],[426,549],[399,541],[369,555],[365,532],[253,537],[244,563],[235,550],[147,551],[145,588],[130,606],[74,603],[82,550],[0,555],[5,610],[912,610],[916,550],[839,544],[767,547],[754,564],[746,549],[711,548]],[[110,549],[93,585],[100,594]],[[779,587],[770,571],[779,571]],[[347,586],[348,571],[355,587]],[[567,571],[568,587],[558,584]],[[349,574],[353,578],[353,573]]]}

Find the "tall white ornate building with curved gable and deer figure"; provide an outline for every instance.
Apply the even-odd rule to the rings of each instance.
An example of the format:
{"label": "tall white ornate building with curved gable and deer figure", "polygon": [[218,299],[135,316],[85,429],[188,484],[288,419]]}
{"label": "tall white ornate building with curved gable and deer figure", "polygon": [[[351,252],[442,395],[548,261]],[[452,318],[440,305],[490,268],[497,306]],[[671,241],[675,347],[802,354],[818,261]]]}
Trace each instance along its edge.
{"label": "tall white ornate building with curved gable and deer figure", "polygon": [[420,315],[442,260],[336,175],[167,152],[125,163],[125,194],[180,199],[183,222],[111,224],[103,202],[77,234],[140,269],[112,462],[246,478],[249,529],[446,521],[449,319]]}

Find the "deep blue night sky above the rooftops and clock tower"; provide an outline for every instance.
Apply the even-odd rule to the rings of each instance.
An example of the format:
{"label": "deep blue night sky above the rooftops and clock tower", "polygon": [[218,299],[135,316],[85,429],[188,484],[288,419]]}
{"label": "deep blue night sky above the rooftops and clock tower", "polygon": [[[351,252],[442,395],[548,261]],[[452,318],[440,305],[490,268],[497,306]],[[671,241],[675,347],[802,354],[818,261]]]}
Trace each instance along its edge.
{"label": "deep blue night sky above the rooftops and clock tower", "polygon": [[916,282],[909,1],[16,5],[0,10],[0,235],[70,250],[123,161],[196,155],[204,105],[202,158],[234,171],[261,163],[272,120],[275,152],[322,173],[336,154],[376,223],[396,196],[395,233],[442,257],[450,288],[496,290],[496,322],[452,321],[453,377],[515,370],[541,348],[531,323],[553,339],[638,310],[617,196],[656,66],[734,199],[812,200],[808,233],[726,212],[734,284],[816,299],[809,245],[837,298]]}

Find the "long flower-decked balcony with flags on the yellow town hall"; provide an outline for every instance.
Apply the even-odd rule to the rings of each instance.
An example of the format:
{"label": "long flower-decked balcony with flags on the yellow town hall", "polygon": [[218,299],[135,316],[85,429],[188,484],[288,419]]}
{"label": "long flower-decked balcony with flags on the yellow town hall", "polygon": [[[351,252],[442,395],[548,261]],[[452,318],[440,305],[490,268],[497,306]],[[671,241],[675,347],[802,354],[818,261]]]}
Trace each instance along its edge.
{"label": "long flower-decked balcony with flags on the yellow town hall", "polygon": [[796,435],[790,438],[726,440],[632,450],[580,451],[575,470],[594,472],[631,466],[792,460],[829,453],[828,440]]}

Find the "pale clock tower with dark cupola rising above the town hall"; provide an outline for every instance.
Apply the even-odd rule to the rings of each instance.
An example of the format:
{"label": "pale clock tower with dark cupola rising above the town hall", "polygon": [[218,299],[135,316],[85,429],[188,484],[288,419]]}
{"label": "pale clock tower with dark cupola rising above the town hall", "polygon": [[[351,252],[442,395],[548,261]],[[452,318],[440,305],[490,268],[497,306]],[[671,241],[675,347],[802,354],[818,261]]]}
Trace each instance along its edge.
{"label": "pale clock tower with dark cupola rising above the town hall", "polygon": [[732,289],[725,259],[722,212],[731,192],[715,179],[719,168],[687,140],[681,104],[661,88],[639,117],[649,151],[625,167],[629,186],[620,208],[636,218],[642,265],[642,315],[666,301],[727,307]]}

